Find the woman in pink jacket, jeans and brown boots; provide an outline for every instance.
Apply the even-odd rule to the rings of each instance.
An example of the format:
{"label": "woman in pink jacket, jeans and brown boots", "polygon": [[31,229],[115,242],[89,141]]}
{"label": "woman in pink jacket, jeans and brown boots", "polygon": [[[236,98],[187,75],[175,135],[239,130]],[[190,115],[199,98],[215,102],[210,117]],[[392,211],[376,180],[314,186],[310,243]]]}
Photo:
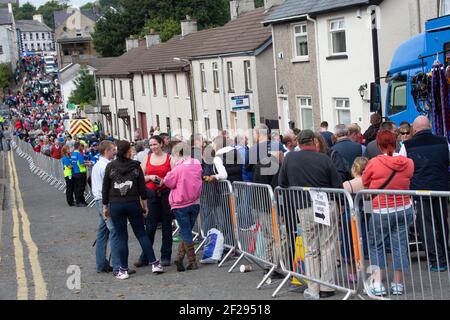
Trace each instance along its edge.
{"label": "woman in pink jacket, jeans and brown boots", "polygon": [[[202,165],[197,159],[189,156],[189,147],[184,143],[174,146],[172,158],[175,165],[166,177],[164,185],[171,189],[170,207],[173,210],[182,241],[178,245],[177,271],[197,269],[192,229],[200,211],[200,195],[202,192]],[[189,264],[183,265],[187,254]]]}

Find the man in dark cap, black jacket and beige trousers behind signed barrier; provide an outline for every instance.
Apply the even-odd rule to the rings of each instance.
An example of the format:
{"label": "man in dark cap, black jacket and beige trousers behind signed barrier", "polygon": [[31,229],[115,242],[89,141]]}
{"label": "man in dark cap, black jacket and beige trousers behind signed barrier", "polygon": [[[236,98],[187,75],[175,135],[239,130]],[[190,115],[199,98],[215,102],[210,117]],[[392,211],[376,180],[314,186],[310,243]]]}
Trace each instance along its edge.
{"label": "man in dark cap, black jacket and beige trousers behind signed barrier", "polygon": [[[298,135],[299,152],[289,152],[280,170],[279,184],[282,187],[342,188],[342,180],[331,159],[316,148],[316,138],[311,130],[303,130]],[[306,274],[326,283],[334,283],[334,259],[336,257],[336,223],[338,208],[335,201],[329,199],[331,226],[314,222],[314,211],[305,192],[285,197],[283,214],[286,223],[288,247],[295,248],[297,225],[302,229],[305,246]],[[317,232],[319,231],[319,232]],[[295,256],[295,252],[292,252]],[[326,261],[326,263],[324,263]],[[327,286],[308,282],[305,296],[318,299],[334,295],[334,290]]]}

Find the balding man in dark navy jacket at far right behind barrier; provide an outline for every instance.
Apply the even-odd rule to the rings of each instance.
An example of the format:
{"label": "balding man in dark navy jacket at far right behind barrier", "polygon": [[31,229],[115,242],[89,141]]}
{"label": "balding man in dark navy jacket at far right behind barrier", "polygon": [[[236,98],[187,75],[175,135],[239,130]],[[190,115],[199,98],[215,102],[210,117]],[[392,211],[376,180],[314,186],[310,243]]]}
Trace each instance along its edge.
{"label": "balding man in dark navy jacket at far right behind barrier", "polygon": [[[419,116],[413,125],[414,136],[404,142],[400,154],[414,161],[411,190],[449,191],[450,146],[444,137],[431,132],[430,120]],[[447,271],[449,251],[446,198],[416,198],[417,230],[426,244],[431,271]],[[423,234],[425,233],[425,234]]]}

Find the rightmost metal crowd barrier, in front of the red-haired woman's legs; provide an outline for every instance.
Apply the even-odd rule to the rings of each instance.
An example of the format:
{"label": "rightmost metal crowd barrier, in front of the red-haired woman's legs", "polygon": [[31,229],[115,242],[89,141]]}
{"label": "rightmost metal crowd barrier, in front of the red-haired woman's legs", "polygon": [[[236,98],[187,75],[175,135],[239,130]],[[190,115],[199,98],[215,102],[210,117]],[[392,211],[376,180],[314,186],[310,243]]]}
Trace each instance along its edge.
{"label": "rightmost metal crowd barrier, in front of the red-haired woman's legs", "polygon": [[358,193],[355,203],[366,204],[355,209],[367,231],[361,275],[369,297],[450,299],[449,199],[437,191]]}

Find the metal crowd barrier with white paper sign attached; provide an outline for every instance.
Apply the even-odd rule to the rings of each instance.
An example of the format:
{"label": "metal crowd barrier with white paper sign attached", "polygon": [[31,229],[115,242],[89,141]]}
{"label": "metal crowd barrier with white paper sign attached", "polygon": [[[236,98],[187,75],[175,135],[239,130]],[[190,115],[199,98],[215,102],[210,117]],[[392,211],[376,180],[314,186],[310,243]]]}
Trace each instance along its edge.
{"label": "metal crowd barrier with white paper sign attached", "polygon": [[342,291],[344,299],[357,294],[360,250],[351,231],[351,195],[341,189],[276,188],[275,201],[280,264],[287,275],[272,296],[291,277],[307,284],[311,298],[318,299],[319,291]]}

